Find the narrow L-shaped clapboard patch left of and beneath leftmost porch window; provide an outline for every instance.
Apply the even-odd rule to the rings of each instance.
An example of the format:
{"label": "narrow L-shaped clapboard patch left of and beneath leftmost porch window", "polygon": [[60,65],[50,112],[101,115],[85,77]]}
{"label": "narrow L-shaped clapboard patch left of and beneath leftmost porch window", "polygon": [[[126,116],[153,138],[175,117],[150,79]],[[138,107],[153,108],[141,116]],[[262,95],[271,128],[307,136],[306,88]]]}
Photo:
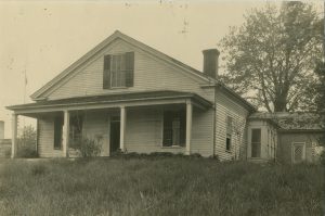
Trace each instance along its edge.
{"label": "narrow L-shaped clapboard patch left of and beneath leftmost porch window", "polygon": [[40,157],[62,157],[62,150],[54,150],[54,117],[41,118],[39,120],[39,144]]}

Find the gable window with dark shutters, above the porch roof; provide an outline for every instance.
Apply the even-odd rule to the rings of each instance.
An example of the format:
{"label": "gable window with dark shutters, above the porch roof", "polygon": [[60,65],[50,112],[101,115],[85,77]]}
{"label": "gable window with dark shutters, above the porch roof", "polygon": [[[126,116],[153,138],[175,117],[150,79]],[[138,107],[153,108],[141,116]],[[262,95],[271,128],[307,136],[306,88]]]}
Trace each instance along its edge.
{"label": "gable window with dark shutters, above the porch roof", "polygon": [[134,52],[104,56],[103,89],[132,87]]}

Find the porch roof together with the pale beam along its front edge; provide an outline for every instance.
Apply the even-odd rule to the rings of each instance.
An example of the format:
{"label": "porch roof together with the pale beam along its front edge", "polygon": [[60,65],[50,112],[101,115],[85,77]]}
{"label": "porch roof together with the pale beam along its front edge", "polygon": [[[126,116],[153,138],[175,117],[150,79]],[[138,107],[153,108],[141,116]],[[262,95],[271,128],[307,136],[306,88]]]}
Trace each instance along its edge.
{"label": "porch roof together with the pale beam along its front edge", "polygon": [[186,100],[200,109],[208,109],[212,103],[196,93],[180,91],[144,91],[128,93],[110,93],[101,96],[75,97],[58,100],[43,100],[35,103],[6,106],[17,114],[35,112],[54,112],[62,110],[89,110],[117,107],[119,105],[140,106],[154,104],[185,103]]}

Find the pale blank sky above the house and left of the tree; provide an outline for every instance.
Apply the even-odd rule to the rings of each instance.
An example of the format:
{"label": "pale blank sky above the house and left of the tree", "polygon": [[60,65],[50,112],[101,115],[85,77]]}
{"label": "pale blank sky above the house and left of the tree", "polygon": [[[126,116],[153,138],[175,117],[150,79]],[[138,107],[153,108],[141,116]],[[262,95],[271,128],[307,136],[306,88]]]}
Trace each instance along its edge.
{"label": "pale blank sky above the house and left of the tree", "polygon": [[[115,30],[202,71],[205,49],[266,1],[1,1],[0,120]],[[276,1],[276,3],[281,3]],[[322,8],[322,1],[313,2]],[[222,53],[221,53],[222,55]],[[25,79],[26,74],[26,79]],[[20,118],[20,127],[35,120]]]}

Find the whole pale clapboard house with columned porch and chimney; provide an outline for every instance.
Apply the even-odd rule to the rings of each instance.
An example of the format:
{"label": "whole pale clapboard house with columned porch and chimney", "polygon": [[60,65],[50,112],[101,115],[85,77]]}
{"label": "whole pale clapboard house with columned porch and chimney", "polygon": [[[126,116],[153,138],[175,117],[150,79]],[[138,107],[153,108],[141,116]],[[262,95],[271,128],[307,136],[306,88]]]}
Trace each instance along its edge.
{"label": "whole pale clapboard house with columned porch and chimney", "polygon": [[[115,31],[31,94],[34,103],[8,107],[12,156],[23,115],[37,119],[40,157],[67,157],[87,137],[101,142],[102,156],[121,150],[275,158],[278,124],[218,80],[217,49],[203,54],[199,72]],[[288,155],[295,154],[290,144]],[[298,161],[306,158],[302,150]]]}

